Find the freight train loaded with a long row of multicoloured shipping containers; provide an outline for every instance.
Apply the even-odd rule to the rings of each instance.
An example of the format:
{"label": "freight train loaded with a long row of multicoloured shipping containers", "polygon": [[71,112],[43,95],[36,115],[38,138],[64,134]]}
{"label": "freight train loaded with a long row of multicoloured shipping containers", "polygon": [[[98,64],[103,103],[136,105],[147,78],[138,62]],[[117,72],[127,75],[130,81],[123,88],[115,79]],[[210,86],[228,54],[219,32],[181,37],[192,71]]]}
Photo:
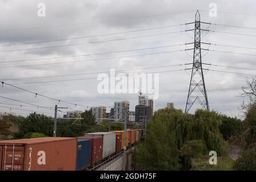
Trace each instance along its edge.
{"label": "freight train loaded with a long row of multicoloured shipping containers", "polygon": [[[145,135],[127,130],[126,148]],[[87,133],[82,137],[45,137],[0,141],[0,171],[88,170],[122,152],[125,132]]]}

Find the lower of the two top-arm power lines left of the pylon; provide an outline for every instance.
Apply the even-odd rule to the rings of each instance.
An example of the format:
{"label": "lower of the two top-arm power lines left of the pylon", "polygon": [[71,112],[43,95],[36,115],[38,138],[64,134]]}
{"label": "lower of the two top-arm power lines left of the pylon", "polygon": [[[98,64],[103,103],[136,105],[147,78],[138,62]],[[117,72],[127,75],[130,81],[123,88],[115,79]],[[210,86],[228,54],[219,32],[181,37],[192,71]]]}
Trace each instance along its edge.
{"label": "lower of the two top-arm power lines left of the pylon", "polygon": [[95,43],[114,42],[114,41],[119,41],[119,40],[147,38],[147,37],[150,37],[150,36],[170,35],[170,34],[177,34],[177,33],[181,33],[181,32],[185,32],[185,31],[175,31],[175,32],[167,32],[167,33],[161,33],[161,34],[134,36],[134,37],[130,37],[130,38],[119,38],[119,39],[111,39],[111,40],[102,40],[102,41],[97,41],[97,42],[66,44],[66,45],[59,45],[59,46],[34,47],[34,48],[26,48],[26,49],[11,49],[11,50],[5,50],[5,51],[0,51],[0,52],[31,51],[31,50],[46,49],[46,48],[59,48],[59,47],[67,47],[67,46],[79,46],[79,45],[85,45],[85,44],[95,44]]}

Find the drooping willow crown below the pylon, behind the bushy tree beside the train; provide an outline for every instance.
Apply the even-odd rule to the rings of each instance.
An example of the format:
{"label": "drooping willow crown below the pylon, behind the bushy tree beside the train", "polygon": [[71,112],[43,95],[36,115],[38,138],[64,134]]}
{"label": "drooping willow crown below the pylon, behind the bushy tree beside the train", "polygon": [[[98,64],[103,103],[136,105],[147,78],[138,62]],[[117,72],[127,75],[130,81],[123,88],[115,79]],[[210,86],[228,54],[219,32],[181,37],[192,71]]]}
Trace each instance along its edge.
{"label": "drooping willow crown below the pylon, behind the bushy tree beside the train", "polygon": [[182,113],[181,110],[161,109],[152,120],[168,123],[169,130],[175,133],[179,150],[189,140],[203,140],[208,151],[220,153],[221,120],[214,111],[197,110],[192,115]]}

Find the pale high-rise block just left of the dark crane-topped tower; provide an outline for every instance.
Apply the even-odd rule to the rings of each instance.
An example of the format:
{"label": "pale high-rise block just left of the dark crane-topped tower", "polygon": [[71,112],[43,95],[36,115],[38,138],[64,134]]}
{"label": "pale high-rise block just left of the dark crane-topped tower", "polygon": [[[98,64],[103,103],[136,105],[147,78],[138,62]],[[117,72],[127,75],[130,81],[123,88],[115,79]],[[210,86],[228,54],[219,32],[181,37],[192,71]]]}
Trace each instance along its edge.
{"label": "pale high-rise block just left of the dark crane-topped tower", "polygon": [[129,101],[115,101],[114,102],[114,117],[115,122],[129,121]]}

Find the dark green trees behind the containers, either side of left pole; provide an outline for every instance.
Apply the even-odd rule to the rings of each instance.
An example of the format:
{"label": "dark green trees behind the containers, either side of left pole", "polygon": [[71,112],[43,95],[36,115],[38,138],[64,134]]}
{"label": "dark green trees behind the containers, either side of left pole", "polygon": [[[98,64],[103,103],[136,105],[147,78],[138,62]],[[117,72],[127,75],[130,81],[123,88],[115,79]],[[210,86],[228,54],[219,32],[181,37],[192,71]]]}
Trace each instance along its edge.
{"label": "dark green trees behind the containers, either side of left pole", "polygon": [[[85,111],[82,116],[83,120],[75,123],[57,119],[57,137],[79,137],[89,130],[100,129],[99,131],[102,131],[101,127],[95,125],[95,118],[91,111]],[[19,127],[19,132],[14,134],[14,138],[53,136],[54,119],[46,115],[31,113],[26,118],[17,117],[14,122]]]}

